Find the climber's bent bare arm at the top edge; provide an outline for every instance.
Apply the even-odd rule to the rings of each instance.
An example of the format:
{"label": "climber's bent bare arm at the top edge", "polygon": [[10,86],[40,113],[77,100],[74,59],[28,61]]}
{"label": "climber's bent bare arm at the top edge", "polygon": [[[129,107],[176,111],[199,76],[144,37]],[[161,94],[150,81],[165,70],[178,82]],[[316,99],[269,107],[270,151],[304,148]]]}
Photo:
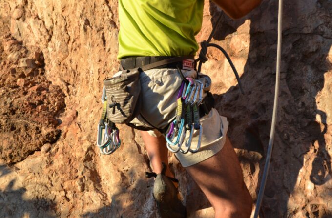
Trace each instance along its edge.
{"label": "climber's bent bare arm at the top edge", "polygon": [[239,19],[256,8],[262,0],[213,0],[225,13],[233,18]]}

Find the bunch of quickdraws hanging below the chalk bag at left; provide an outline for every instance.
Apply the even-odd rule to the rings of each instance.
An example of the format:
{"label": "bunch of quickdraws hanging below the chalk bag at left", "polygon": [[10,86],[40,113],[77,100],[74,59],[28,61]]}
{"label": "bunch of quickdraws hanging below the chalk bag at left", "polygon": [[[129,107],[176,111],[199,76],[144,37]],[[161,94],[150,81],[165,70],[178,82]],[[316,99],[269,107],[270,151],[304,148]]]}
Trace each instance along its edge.
{"label": "bunch of quickdraws hanging below the chalk bag at left", "polygon": [[109,155],[120,147],[121,140],[119,137],[119,129],[113,122],[107,119],[107,96],[105,87],[103,87],[102,104],[103,112],[98,123],[97,146],[101,154]]}

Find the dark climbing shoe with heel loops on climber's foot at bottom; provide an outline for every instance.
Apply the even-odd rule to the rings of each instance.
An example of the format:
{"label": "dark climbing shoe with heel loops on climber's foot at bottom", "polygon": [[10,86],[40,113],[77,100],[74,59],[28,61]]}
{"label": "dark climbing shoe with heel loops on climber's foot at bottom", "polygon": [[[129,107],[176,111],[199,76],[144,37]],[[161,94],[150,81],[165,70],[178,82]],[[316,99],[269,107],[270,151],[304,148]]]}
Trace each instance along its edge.
{"label": "dark climbing shoe with heel loops on climber's foot at bottom", "polygon": [[177,195],[177,190],[173,182],[178,182],[176,178],[165,175],[166,164],[163,164],[161,174],[145,173],[146,178],[155,177],[153,186],[153,197],[157,202],[160,216],[162,218],[186,218],[186,207],[182,205]]}

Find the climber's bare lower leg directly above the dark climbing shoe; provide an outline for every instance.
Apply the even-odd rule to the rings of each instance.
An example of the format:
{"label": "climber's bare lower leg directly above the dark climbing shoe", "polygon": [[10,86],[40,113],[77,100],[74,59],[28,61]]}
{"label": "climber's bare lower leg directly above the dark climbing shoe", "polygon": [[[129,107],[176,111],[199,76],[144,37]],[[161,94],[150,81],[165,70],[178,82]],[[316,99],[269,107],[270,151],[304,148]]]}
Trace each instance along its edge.
{"label": "climber's bare lower leg directly above the dark climbing shoe", "polygon": [[166,176],[174,178],[174,175],[169,170],[168,166],[168,150],[166,147],[165,137],[151,136],[146,131],[141,131],[142,139],[145,143],[145,148],[147,151],[147,156],[150,159],[151,165],[153,167],[153,172],[160,174],[162,172],[162,162],[167,166]]}

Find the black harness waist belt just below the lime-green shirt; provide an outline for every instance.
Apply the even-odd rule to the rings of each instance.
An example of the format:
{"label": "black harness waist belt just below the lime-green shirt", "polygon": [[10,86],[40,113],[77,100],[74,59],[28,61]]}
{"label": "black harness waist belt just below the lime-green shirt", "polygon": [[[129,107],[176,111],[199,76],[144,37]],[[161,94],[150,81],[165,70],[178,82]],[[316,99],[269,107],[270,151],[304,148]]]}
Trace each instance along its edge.
{"label": "black harness waist belt just below the lime-green shirt", "polygon": [[[124,58],[120,60],[121,66],[123,69],[135,69],[135,68],[149,68],[148,65],[160,62],[160,64],[154,64],[153,68],[172,68],[176,69],[179,67],[183,69],[183,60],[185,59],[194,59],[194,56],[182,56],[182,57],[174,57],[174,56],[142,56],[142,57],[130,57]],[[121,67],[120,67],[121,69]],[[121,69],[121,70],[123,70]],[[151,68],[150,68],[151,69]],[[147,70],[147,69],[145,69]]]}

